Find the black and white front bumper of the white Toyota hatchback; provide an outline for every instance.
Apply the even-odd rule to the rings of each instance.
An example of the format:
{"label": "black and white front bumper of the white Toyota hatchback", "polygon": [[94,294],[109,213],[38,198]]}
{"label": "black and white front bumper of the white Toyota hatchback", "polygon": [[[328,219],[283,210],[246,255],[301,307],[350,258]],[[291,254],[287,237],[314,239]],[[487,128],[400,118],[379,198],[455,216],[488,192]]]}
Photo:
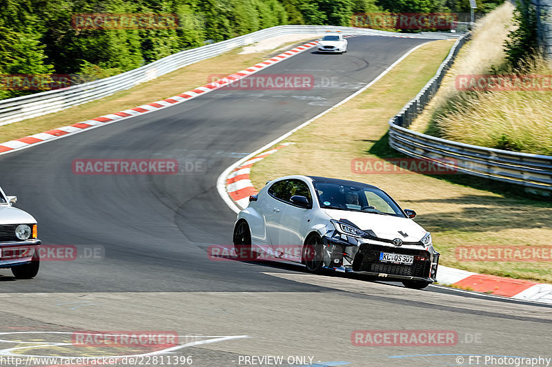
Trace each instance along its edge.
{"label": "black and white front bumper of the white Toyota hatchback", "polygon": [[[440,254],[433,247],[395,247],[384,244],[363,243],[357,246],[339,236],[323,236],[324,266],[328,269],[345,269],[364,275],[381,277],[382,280],[419,280],[437,282],[437,266]],[[413,264],[382,262],[381,252],[413,255]],[[352,261],[351,261],[352,260]],[[345,263],[345,264],[344,264]]]}

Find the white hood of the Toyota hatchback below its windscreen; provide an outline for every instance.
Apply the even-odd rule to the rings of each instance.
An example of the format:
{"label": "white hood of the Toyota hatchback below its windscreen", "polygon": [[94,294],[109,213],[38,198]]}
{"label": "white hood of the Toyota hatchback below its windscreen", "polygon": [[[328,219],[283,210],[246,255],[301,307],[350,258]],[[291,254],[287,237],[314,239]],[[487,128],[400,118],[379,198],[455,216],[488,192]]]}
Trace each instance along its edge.
{"label": "white hood of the Toyota hatchback below its windscreen", "polygon": [[[417,242],[422,240],[426,230],[410,218],[384,216],[382,214],[362,213],[359,211],[325,209],[332,219],[346,219],[353,222],[359,229],[371,229],[379,238],[394,240],[400,238],[404,242]],[[399,233],[401,231],[406,235]]]}

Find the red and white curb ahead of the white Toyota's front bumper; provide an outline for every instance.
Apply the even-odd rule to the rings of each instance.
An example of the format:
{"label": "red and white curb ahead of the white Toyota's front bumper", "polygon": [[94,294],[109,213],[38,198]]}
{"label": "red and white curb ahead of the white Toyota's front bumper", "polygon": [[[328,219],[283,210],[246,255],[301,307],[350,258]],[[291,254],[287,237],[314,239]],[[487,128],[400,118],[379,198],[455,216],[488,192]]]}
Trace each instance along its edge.
{"label": "red and white curb ahead of the white Toyota's front bumper", "polygon": [[439,266],[437,281],[460,289],[511,297],[516,300],[552,304],[552,284],[531,282],[509,277],[472,273]]}

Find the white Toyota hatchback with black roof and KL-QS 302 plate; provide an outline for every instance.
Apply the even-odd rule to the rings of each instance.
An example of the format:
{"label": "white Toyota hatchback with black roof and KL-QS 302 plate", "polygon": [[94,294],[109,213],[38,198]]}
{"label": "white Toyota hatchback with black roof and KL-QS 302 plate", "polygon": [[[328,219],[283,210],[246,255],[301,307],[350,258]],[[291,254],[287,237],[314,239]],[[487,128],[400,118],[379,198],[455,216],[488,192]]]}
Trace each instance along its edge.
{"label": "white Toyota hatchback with black roof and KL-QS 302 plate", "polygon": [[351,271],[422,289],[437,281],[439,253],[415,216],[372,185],[286,176],[250,196],[233,242],[239,258],[269,252],[315,273]]}

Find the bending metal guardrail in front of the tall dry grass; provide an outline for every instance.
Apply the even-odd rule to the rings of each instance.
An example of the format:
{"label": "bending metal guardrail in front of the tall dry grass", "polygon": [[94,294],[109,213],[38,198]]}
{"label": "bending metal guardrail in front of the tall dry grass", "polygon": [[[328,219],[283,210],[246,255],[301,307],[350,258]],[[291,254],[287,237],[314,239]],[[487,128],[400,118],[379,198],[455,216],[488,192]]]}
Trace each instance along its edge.
{"label": "bending metal guardrail in front of the tall dry grass", "polygon": [[389,145],[407,156],[427,158],[453,171],[546,190],[544,192],[549,194],[552,191],[552,156],[478,147],[408,129],[435,95],[456,54],[470,36],[466,34],[456,41],[431,81],[389,120]]}

